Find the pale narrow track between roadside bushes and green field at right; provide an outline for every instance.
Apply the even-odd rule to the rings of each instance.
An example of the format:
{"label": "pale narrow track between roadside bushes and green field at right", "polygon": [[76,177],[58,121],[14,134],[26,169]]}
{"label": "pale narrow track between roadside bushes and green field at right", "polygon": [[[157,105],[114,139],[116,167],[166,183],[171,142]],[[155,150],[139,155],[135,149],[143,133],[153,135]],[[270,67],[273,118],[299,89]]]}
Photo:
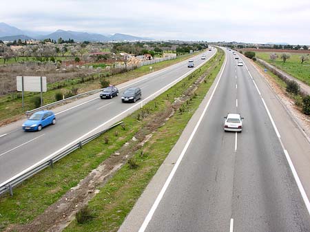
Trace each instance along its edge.
{"label": "pale narrow track between roadside bushes and green field at right", "polygon": [[261,65],[263,65],[264,67],[266,67],[268,70],[270,70],[270,72],[272,72],[276,76],[280,77],[283,81],[285,81],[285,83],[288,83],[289,81],[296,81],[298,83],[298,85],[300,86],[300,95],[301,96],[310,95],[310,91],[309,91],[310,86],[308,86],[308,87],[302,86],[302,85],[306,85],[306,84],[301,83],[300,81],[298,81],[293,76],[287,74],[286,72],[283,72],[282,70],[278,69],[277,67],[274,67],[273,65],[267,63],[266,61],[263,61],[261,59],[256,59],[256,61],[258,63],[260,63]]}

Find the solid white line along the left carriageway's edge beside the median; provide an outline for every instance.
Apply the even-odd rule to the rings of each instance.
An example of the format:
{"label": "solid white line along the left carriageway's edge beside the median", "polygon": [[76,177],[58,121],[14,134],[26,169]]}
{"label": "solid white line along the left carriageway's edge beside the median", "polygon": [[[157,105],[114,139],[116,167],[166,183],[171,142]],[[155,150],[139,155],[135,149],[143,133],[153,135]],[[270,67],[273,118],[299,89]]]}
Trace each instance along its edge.
{"label": "solid white line along the left carriageway's edge beside the median", "polygon": [[[209,57],[209,59],[206,59],[203,63],[200,63],[200,65],[198,65],[197,67],[194,68],[194,70],[189,70],[189,72],[183,74],[183,76],[180,76],[179,78],[177,78],[176,80],[172,81],[171,83],[169,83],[168,85],[165,85],[164,87],[162,87],[161,89],[157,90],[156,92],[154,92],[154,94],[149,95],[147,98],[143,99],[141,101],[141,104],[145,101],[147,101],[147,99],[152,98],[153,96],[156,96],[156,94],[160,93],[161,91],[165,90],[165,89],[169,89],[170,87],[172,87],[173,85],[175,85],[176,83],[178,83],[178,81],[182,80],[183,78],[185,78],[186,76],[188,76],[190,73],[194,72],[195,70],[198,70],[199,67],[203,66],[205,63],[207,63],[207,61],[209,61],[214,55],[216,54],[216,52],[211,55]],[[43,158],[42,160],[40,160],[39,162],[35,163],[34,165],[31,165],[30,167],[28,167],[27,169],[24,169],[23,171],[21,171],[20,173],[18,173],[17,175],[11,177],[10,179],[2,182],[0,184],[0,186],[3,186],[4,184],[10,182],[11,180],[14,180],[15,178],[17,178],[18,176],[23,175],[23,173],[26,173],[28,171],[30,171],[31,169],[33,169],[34,167],[37,167],[38,165],[40,165],[41,163],[50,160],[50,158],[54,157],[56,154],[59,154],[61,151],[67,149],[68,147],[71,147],[72,145],[74,145],[75,143],[81,141],[83,138],[85,138],[86,136],[92,134],[94,131],[96,131],[97,129],[103,127],[104,125],[107,125],[107,123],[110,123],[112,120],[118,118],[119,116],[127,113],[130,111],[130,109],[133,109],[134,107],[136,107],[137,105],[139,105],[140,103],[136,103],[135,105],[132,105],[132,107],[129,107],[128,109],[125,109],[123,112],[121,112],[120,114],[114,116],[113,118],[110,118],[110,120],[107,120],[105,123],[95,127],[94,129],[88,131],[86,134],[83,134],[83,136],[80,136],[79,138],[76,138],[76,140],[73,140],[71,143],[68,143],[67,145],[65,145],[64,147],[61,147],[60,149],[58,149],[57,151],[54,151],[52,154],[50,154],[50,156],[47,156],[45,158]]]}

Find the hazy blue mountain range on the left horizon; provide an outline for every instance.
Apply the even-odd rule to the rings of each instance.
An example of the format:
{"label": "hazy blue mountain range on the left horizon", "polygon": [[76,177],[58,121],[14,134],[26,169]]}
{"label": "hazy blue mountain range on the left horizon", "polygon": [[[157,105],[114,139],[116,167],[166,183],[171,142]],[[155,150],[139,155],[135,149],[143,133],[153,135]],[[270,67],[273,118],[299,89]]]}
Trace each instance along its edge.
{"label": "hazy blue mountain range on the left horizon", "polygon": [[[41,35],[39,35],[41,34]],[[29,40],[29,39],[54,39],[58,40],[62,38],[63,40],[74,39],[74,41],[150,41],[153,39],[143,38],[138,36],[132,36],[130,34],[94,34],[87,32],[74,32],[71,30],[56,30],[50,34],[42,34],[42,32],[27,32],[15,28],[6,23],[0,23],[0,40],[1,41],[14,41],[14,40]]]}

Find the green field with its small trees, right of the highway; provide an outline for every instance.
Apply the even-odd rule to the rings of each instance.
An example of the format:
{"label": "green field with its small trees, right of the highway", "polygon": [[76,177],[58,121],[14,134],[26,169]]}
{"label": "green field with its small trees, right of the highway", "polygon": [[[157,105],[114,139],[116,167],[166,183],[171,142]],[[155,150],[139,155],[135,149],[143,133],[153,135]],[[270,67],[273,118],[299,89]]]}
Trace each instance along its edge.
{"label": "green field with its small trees, right of the highway", "polygon": [[310,85],[310,52],[309,54],[256,52],[256,56]]}

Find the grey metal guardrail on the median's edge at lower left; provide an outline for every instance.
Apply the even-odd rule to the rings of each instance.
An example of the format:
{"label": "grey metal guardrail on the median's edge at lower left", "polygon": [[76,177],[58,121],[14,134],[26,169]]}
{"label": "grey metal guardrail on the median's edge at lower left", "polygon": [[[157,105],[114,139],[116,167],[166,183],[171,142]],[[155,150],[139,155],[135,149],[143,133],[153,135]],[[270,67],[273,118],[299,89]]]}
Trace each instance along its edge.
{"label": "grey metal guardrail on the median's edge at lower left", "polygon": [[18,175],[16,178],[14,178],[8,182],[3,182],[5,184],[2,184],[0,186],[0,196],[3,193],[6,193],[8,191],[10,191],[10,195],[13,196],[13,187],[16,187],[18,184],[21,184],[21,182],[23,182],[24,180],[27,180],[28,178],[30,178],[34,174],[38,173],[39,171],[45,169],[45,167],[53,167],[54,162],[57,162],[61,158],[67,156],[72,151],[75,151],[76,149],[82,148],[83,145],[89,143],[90,141],[94,140],[95,138],[98,138],[102,134],[105,134],[106,131],[109,131],[110,129],[112,129],[116,126],[121,125],[122,123],[123,123],[123,121],[116,123],[116,124],[112,125],[111,127],[104,129],[103,131],[100,131],[100,132],[98,132],[98,133],[96,133],[96,134],[94,134],[88,138],[85,138],[84,140],[81,140],[79,143],[72,145],[72,147],[69,147],[68,149],[65,149],[64,151],[61,151],[60,154],[56,154],[54,157],[50,158],[49,160],[45,160],[44,162],[41,162],[39,165],[32,168],[31,170],[29,170],[25,173],[21,172],[21,174]]}

